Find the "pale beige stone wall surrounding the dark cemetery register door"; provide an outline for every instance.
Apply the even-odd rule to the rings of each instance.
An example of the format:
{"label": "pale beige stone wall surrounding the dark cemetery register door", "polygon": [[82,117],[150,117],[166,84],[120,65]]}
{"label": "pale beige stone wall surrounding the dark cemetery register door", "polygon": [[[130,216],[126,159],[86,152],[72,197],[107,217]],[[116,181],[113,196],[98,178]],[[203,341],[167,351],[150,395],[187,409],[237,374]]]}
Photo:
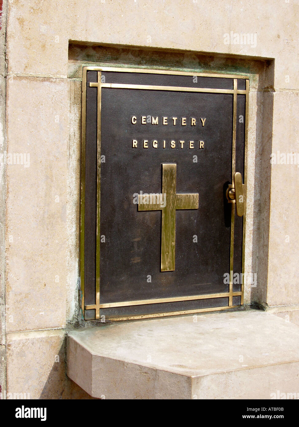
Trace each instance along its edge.
{"label": "pale beige stone wall surrounding the dark cemetery register door", "polygon": [[[298,12],[292,0],[3,3],[1,149],[6,151],[7,143],[7,153],[13,159],[15,154],[15,162],[0,165],[2,254],[4,231],[6,239],[0,261],[3,390],[31,398],[89,397],[67,378],[64,352],[67,329],[83,326],[78,304],[82,65],[249,76],[246,272],[257,273],[257,287],[245,289],[245,302],[299,323],[299,169],[270,164],[272,152],[299,152]],[[231,44],[241,33],[252,35],[250,43]]]}

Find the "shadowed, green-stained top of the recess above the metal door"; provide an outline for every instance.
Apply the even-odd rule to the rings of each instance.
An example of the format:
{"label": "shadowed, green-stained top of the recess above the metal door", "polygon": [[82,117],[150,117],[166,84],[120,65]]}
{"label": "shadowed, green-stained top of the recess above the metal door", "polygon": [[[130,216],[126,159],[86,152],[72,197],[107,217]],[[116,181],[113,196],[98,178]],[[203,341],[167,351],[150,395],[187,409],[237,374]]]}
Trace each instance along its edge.
{"label": "shadowed, green-stained top of the recess above the metal door", "polygon": [[70,45],[68,77],[81,79],[83,66],[245,75],[250,85],[257,88],[265,61],[189,51]]}

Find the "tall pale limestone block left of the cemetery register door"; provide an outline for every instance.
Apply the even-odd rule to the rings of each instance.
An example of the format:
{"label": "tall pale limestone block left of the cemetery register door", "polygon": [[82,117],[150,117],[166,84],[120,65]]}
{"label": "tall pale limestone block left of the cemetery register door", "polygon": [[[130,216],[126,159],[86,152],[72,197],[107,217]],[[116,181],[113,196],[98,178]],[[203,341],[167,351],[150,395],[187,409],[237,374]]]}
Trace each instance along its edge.
{"label": "tall pale limestone block left of the cemetery register door", "polygon": [[7,331],[66,317],[66,79],[14,77],[7,97]]}

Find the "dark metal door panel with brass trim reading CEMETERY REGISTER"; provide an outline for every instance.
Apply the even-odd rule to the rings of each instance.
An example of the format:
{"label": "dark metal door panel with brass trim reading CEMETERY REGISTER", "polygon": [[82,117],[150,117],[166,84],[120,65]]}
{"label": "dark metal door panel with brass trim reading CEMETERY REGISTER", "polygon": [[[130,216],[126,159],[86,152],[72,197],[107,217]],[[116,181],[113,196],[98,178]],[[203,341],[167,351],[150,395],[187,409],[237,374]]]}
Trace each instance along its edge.
{"label": "dark metal door panel with brass trim reading CEMETERY REGISTER", "polygon": [[[80,256],[85,319],[242,304],[243,286],[233,284],[232,277],[227,283],[224,274],[232,271],[234,260],[234,270],[243,271],[243,218],[224,193],[236,167],[245,172],[248,83],[231,76],[198,76],[194,82],[191,74],[158,71],[86,67],[84,73]],[[237,121],[242,115],[244,120]],[[158,124],[151,117],[158,117]],[[175,165],[177,194],[198,194],[198,208],[175,211],[173,271],[161,271],[162,211],[140,211],[136,203],[140,192],[162,193],[167,164]]]}

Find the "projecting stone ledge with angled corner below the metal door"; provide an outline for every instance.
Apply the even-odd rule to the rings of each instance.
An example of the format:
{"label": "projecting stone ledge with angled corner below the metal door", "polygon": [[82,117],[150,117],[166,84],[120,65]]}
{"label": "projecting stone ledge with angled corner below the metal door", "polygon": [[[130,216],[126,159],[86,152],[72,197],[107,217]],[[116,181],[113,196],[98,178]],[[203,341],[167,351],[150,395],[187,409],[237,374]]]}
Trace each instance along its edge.
{"label": "projecting stone ledge with angled corner below the metal door", "polygon": [[299,327],[259,310],[103,324],[68,335],[67,374],[106,399],[299,392]]}

